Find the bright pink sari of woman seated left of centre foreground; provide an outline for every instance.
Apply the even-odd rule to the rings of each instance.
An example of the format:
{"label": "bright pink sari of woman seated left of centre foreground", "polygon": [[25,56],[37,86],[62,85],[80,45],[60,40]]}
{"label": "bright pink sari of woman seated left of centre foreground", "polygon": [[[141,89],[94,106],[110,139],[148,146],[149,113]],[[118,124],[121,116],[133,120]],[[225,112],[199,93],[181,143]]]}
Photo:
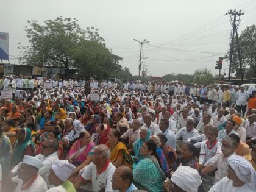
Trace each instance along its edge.
{"label": "bright pink sari of woman seated left of centre foreground", "polygon": [[73,164],[79,165],[86,160],[88,154],[90,155],[94,146],[93,141],[90,141],[87,146],[81,147],[81,141],[77,140],[69,150],[68,157],[74,157]]}

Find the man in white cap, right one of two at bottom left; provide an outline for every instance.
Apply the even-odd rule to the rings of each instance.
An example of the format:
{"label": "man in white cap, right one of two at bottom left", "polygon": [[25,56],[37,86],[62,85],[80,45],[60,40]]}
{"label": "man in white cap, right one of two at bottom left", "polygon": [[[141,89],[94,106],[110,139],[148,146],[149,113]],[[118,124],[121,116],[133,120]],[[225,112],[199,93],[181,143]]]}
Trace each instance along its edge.
{"label": "man in white cap, right one of two at bottom left", "polygon": [[68,162],[68,160],[59,160],[52,164],[49,174],[49,183],[55,187],[50,188],[46,192],[69,192],[76,191],[73,183],[68,179],[76,167]]}

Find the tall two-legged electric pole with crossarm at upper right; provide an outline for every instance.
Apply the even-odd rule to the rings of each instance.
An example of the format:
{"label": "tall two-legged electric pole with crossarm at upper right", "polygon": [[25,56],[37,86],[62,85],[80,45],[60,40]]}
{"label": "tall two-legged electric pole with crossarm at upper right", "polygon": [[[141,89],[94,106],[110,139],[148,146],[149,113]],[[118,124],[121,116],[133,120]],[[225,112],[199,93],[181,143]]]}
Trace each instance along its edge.
{"label": "tall two-legged electric pole with crossarm at upper right", "polygon": [[[233,27],[232,30],[232,40],[230,44],[230,51],[229,51],[229,82],[230,82],[230,77],[231,77],[231,67],[232,67],[232,59],[233,59],[233,46],[234,46],[234,38],[235,38],[235,33],[236,33],[236,45],[238,49],[238,58],[239,58],[239,65],[240,65],[240,73],[241,73],[241,80],[243,82],[243,70],[242,70],[242,63],[241,63],[241,55],[240,55],[240,46],[239,46],[239,41],[238,41],[238,33],[237,29],[240,24],[240,16],[244,15],[242,13],[242,10],[240,9],[239,12],[237,12],[235,9],[234,10],[229,10],[229,12],[226,13],[226,15],[230,16],[230,24]],[[238,20],[236,20],[236,16],[238,16]]]}

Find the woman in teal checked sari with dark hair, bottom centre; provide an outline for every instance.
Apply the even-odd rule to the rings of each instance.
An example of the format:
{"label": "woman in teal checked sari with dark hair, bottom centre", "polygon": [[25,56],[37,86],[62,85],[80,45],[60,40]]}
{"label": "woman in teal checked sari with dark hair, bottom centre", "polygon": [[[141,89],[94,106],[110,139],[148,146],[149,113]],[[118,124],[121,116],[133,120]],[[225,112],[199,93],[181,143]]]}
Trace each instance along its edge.
{"label": "woman in teal checked sari with dark hair, bottom centre", "polygon": [[154,141],[146,141],[140,149],[143,159],[133,169],[133,183],[138,189],[162,192],[163,181],[166,179],[157,159],[157,145]]}

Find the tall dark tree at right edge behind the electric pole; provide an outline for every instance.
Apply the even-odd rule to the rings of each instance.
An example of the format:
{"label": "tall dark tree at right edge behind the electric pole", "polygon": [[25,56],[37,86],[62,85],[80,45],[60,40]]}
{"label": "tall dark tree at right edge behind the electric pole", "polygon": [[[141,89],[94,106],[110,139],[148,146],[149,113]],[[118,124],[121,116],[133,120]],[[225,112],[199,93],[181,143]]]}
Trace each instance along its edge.
{"label": "tall dark tree at right edge behind the electric pole", "polygon": [[[247,26],[238,37],[240,43],[241,63],[244,69],[249,66],[256,74],[256,26]],[[225,59],[230,59],[230,52],[225,55]],[[232,73],[240,76],[240,65],[238,60],[238,49],[236,46],[236,39],[234,41],[234,52],[232,59]]]}

